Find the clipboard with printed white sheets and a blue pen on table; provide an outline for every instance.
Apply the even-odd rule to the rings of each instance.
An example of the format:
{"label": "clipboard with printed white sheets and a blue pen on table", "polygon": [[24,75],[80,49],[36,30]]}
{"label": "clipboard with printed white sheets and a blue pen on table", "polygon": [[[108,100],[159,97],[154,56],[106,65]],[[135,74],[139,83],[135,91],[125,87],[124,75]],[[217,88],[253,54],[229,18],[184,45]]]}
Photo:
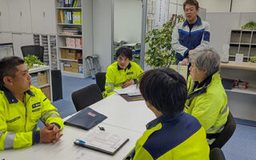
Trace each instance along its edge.
{"label": "clipboard with printed white sheets and a blue pen on table", "polygon": [[74,144],[113,155],[128,141],[129,138],[123,138],[95,128],[90,130],[84,138],[74,141]]}

